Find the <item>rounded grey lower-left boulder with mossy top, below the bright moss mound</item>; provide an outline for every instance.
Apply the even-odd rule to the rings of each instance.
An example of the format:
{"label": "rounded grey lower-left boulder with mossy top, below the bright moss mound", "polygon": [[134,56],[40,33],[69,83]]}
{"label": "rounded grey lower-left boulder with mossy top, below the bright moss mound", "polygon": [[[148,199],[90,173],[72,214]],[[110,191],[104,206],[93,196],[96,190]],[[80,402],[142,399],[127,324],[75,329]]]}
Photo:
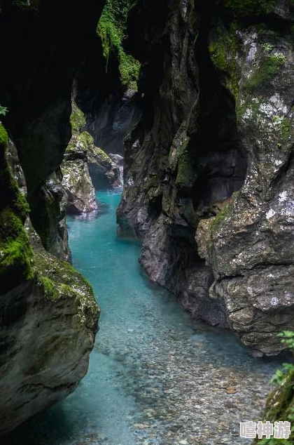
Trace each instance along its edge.
{"label": "rounded grey lower-left boulder with mossy top, below the bright moss mound", "polygon": [[0,361],[6,366],[1,368],[0,434],[76,388],[87,372],[99,317],[90,284],[45,251],[29,220],[25,227],[31,277],[18,281],[16,264],[13,288],[3,292],[1,286]]}

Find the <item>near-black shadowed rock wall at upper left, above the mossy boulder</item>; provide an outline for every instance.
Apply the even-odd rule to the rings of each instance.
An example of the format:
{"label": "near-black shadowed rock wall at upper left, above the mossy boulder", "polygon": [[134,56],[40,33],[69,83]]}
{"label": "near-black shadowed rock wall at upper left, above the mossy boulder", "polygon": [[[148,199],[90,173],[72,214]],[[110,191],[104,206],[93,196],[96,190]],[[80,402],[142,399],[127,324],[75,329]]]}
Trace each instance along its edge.
{"label": "near-black shadowed rock wall at upper left, above the mossy boulder", "polygon": [[[38,216],[52,210],[53,206],[47,208],[47,195],[50,200],[62,200],[62,193],[55,193],[55,186],[55,190],[50,186],[48,190],[46,181],[56,171],[59,175],[59,165],[71,138],[73,77],[81,67],[85,48],[95,39],[104,1],[94,4],[87,0],[83,11],[68,0],[62,7],[56,0],[50,4],[45,0],[7,0],[1,1],[0,6],[0,38],[10,42],[1,51],[6,63],[6,69],[0,73],[1,105],[9,110],[3,123],[15,142],[25,173],[31,223],[45,248],[50,246],[50,251],[59,251],[60,258],[67,258],[66,231],[59,227],[63,203],[55,204],[57,214],[53,218],[42,218],[40,224]],[[52,22],[54,35],[49,26]],[[73,27],[77,29],[74,33]],[[58,179],[57,188],[59,182]],[[48,237],[54,219],[55,236]],[[56,246],[52,245],[54,240]]]}

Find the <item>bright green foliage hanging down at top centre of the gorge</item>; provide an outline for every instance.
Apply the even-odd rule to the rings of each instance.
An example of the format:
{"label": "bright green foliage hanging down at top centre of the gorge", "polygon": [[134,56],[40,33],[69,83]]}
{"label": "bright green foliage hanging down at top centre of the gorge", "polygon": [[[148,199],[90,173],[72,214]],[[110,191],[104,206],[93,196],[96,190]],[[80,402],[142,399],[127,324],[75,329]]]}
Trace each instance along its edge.
{"label": "bright green foliage hanging down at top centre of the gorge", "polygon": [[140,64],[132,55],[126,54],[123,48],[127,13],[130,10],[131,4],[132,1],[130,0],[108,0],[97,26],[97,34],[102,39],[106,69],[109,55],[112,51],[115,51],[118,55],[122,84],[136,88]]}

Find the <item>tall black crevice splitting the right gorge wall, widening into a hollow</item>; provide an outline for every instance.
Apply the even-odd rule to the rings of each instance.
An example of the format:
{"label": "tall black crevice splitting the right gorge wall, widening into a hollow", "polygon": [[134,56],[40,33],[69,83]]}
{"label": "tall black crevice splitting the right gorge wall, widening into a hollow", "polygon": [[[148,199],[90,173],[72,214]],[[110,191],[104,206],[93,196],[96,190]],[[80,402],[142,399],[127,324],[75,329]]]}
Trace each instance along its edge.
{"label": "tall black crevice splitting the right gorge wall, widening into a hollow", "polygon": [[191,194],[200,215],[209,207],[225,201],[244,183],[247,161],[237,130],[235,98],[223,85],[209,54],[209,29],[214,19],[214,1],[199,6],[200,32],[196,44],[199,67],[200,110],[197,133],[190,140],[190,150],[197,178]]}

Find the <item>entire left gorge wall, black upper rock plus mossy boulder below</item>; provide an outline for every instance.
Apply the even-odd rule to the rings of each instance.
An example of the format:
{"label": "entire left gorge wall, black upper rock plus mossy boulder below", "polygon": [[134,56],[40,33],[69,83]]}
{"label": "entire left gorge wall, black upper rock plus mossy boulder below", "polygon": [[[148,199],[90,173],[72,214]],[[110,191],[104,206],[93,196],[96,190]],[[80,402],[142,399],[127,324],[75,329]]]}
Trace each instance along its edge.
{"label": "entire left gorge wall, black upper rock plus mossy boulder below", "polygon": [[[0,434],[73,391],[94,345],[92,288],[56,257],[69,259],[59,164],[71,137],[71,85],[103,6],[0,1],[0,39],[9,42],[1,48],[1,105],[9,110],[1,120],[21,165],[11,152],[12,174],[0,124]],[[34,229],[15,179],[27,190]]]}

